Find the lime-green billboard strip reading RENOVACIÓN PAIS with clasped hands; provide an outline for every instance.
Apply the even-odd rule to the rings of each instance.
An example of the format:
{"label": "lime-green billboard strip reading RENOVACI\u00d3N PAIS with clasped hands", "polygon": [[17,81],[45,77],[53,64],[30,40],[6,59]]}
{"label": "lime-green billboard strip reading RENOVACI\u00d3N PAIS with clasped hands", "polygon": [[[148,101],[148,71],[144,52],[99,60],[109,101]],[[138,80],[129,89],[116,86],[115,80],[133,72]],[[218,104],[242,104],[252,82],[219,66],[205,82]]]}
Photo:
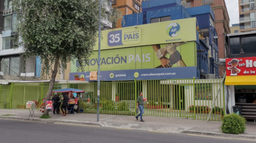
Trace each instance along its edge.
{"label": "lime-green billboard strip reading RENOVACI\u00d3N PAIS with clasped hands", "polygon": [[[196,66],[196,43],[181,42],[149,46],[108,49],[101,51],[100,70],[134,70]],[[86,62],[84,62],[85,64]],[[98,70],[98,51],[87,61],[84,71]],[[77,61],[71,62],[70,72],[77,71]]]}

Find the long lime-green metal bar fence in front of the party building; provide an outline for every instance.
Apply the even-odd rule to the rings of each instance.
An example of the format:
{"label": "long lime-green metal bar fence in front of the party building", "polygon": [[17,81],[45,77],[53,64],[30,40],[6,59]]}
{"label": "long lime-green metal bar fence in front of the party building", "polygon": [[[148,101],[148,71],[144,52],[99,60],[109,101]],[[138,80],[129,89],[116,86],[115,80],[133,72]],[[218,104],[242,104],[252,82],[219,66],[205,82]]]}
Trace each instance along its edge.
{"label": "long lime-green metal bar fence in front of the party building", "polygon": [[[79,111],[97,113],[97,82],[55,84],[53,90],[61,88],[85,90],[79,95]],[[0,85],[0,108],[24,109],[28,100],[37,100],[41,104],[48,89],[49,83],[42,82]],[[221,121],[225,114],[225,90],[221,79],[101,81],[100,114],[135,115],[139,91],[147,98],[144,104],[144,115],[147,116],[206,120],[213,108],[210,120]]]}

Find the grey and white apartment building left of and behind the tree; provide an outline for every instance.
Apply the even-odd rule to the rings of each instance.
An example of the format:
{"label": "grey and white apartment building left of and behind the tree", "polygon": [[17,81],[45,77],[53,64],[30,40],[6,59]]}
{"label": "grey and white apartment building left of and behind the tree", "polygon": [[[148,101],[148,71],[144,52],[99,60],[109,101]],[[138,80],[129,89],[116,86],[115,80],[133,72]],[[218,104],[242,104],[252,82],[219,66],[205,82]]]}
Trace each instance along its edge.
{"label": "grey and white apartment building left of and behind the tree", "polygon": [[[13,49],[12,37],[17,35],[17,12],[12,9],[12,0],[0,0],[0,71],[10,79],[20,76],[40,77],[41,65],[38,57],[26,61],[26,73],[23,65],[22,47]],[[15,78],[17,79],[17,78]],[[21,78],[22,80],[23,78]]]}

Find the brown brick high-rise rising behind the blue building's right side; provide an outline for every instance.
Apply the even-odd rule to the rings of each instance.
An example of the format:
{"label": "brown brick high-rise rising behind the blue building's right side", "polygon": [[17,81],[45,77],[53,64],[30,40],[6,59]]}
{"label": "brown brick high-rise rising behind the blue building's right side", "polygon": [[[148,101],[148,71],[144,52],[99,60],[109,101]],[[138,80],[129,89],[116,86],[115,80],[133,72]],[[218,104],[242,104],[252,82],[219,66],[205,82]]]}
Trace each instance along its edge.
{"label": "brown brick high-rise rising behind the blue building's right side", "polygon": [[[215,22],[213,24],[215,25],[215,28],[218,34],[219,58],[227,57],[224,35],[230,33],[230,28],[229,28],[229,16],[228,16],[225,0],[186,0],[186,1],[187,1],[187,4],[185,6],[186,8],[207,5],[207,4],[211,5],[212,10],[215,14]],[[243,1],[246,1],[246,0],[243,0]],[[248,0],[248,1],[254,1],[254,0]],[[225,70],[225,67],[220,66],[219,70],[220,70],[220,77],[222,77],[223,76],[222,73]]]}

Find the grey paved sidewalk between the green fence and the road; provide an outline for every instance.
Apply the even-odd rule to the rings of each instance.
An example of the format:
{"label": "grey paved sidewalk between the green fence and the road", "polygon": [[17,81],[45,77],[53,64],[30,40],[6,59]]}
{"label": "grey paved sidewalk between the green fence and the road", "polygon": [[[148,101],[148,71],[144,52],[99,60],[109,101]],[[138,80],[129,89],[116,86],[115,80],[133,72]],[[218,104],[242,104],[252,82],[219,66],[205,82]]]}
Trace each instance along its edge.
{"label": "grey paved sidewalk between the green fence and the road", "polygon": [[[11,116],[2,116],[6,114],[13,114]],[[71,123],[71,124],[88,124],[99,125],[104,127],[115,128],[129,128],[129,129],[141,129],[161,132],[173,132],[173,133],[189,133],[189,134],[206,134],[207,136],[220,136],[227,138],[244,138],[244,139],[256,139],[256,124],[253,122],[247,122],[246,132],[240,135],[224,134],[220,132],[219,127],[221,122],[217,121],[201,121],[184,118],[174,117],[153,117],[144,116],[145,122],[140,122],[135,119],[134,116],[122,116],[122,115],[103,115],[100,114],[100,122],[97,122],[97,114],[68,114],[67,116],[61,116],[61,114],[51,114],[51,119],[39,119],[42,115],[41,112],[35,111],[36,117],[28,117],[28,110],[3,110],[0,109],[0,119],[14,119],[14,120],[27,120],[37,122],[58,122],[58,123]],[[1,122],[1,121],[0,121]]]}

